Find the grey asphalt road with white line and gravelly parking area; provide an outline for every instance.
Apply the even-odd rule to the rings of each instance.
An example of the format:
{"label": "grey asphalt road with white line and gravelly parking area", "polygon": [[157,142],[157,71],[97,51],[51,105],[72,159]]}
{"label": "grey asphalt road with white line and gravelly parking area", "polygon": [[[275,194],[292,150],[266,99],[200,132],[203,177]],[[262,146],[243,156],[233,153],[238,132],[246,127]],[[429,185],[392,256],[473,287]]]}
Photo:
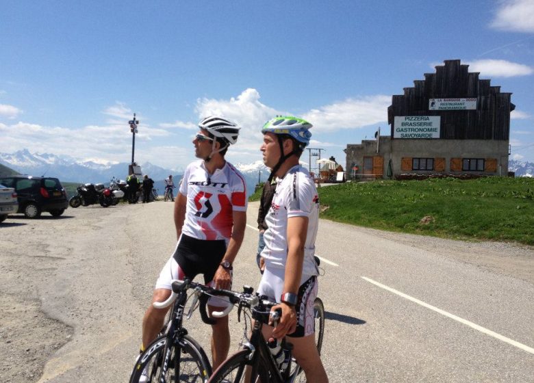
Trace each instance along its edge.
{"label": "grey asphalt road with white line and gravelly parking area", "polygon": [[[259,281],[256,211],[251,204],[234,289]],[[8,313],[0,319],[7,329],[0,352],[22,347],[18,360],[8,360],[22,364],[27,344],[47,343],[47,352],[30,360],[36,371],[46,364],[33,379],[0,369],[0,380],[126,382],[142,314],[175,247],[172,203],[80,207],[60,220],[43,217],[19,216],[0,226],[0,304]],[[325,220],[316,245],[331,382],[534,381],[533,248]],[[32,307],[47,321],[32,322]],[[230,315],[235,350],[243,327]],[[199,315],[185,326],[209,350],[209,328]]]}

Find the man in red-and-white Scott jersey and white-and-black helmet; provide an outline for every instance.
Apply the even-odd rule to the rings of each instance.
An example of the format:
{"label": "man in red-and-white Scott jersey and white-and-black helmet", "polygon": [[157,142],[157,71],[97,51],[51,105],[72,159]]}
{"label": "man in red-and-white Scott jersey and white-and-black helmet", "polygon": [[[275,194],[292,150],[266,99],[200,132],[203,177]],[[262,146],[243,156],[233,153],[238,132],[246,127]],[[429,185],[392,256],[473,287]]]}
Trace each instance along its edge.
{"label": "man in red-and-white Scott jersey and white-and-black helmet", "polygon": [[[163,302],[171,292],[170,281],[203,274],[205,284],[231,288],[232,263],[244,237],[246,226],[246,185],[243,176],[225,154],[238,139],[236,124],[210,116],[199,122],[193,140],[195,156],[179,187],[174,220],[178,243],[160,273],[152,302]],[[220,311],[227,303],[208,302],[208,309]],[[143,318],[141,351],[162,328],[166,309],[151,304]],[[228,318],[218,318],[212,326],[212,364],[214,369],[227,358],[230,347]]]}

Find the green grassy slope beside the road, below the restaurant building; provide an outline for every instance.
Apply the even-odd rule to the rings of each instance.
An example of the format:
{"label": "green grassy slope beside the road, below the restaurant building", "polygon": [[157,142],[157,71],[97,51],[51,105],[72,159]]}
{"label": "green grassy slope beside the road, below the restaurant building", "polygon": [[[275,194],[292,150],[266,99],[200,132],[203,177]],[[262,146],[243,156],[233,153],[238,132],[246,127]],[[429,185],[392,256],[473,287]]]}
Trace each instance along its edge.
{"label": "green grassy slope beside the road, below the restaurant building", "polygon": [[372,181],[318,191],[321,217],[329,220],[435,237],[534,245],[534,179]]}

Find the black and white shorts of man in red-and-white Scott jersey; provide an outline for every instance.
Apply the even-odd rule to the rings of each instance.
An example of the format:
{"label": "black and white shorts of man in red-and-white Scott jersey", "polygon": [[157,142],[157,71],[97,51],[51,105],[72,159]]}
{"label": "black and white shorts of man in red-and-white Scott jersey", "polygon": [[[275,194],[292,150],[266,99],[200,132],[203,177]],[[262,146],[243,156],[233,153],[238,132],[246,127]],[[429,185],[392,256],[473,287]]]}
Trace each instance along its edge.
{"label": "black and white shorts of man in red-and-white Scott jersey", "polygon": [[[183,280],[187,277],[193,280],[199,274],[203,274],[205,285],[215,287],[213,278],[225,252],[226,241],[222,239],[206,241],[182,234],[174,254],[160,272],[155,288],[171,290],[170,283],[173,279]],[[212,297],[209,298],[208,304],[225,308],[230,303],[226,297]]]}

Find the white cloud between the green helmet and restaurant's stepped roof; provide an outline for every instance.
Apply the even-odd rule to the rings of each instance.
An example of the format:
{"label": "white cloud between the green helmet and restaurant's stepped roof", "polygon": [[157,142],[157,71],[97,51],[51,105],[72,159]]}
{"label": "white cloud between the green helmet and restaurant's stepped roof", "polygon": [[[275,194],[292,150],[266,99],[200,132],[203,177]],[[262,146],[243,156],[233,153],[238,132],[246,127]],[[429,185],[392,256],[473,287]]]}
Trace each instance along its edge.
{"label": "white cloud between the green helmet and restaurant's stepped roof", "polygon": [[387,121],[391,96],[376,95],[347,98],[345,101],[312,109],[304,118],[320,132],[354,129]]}

